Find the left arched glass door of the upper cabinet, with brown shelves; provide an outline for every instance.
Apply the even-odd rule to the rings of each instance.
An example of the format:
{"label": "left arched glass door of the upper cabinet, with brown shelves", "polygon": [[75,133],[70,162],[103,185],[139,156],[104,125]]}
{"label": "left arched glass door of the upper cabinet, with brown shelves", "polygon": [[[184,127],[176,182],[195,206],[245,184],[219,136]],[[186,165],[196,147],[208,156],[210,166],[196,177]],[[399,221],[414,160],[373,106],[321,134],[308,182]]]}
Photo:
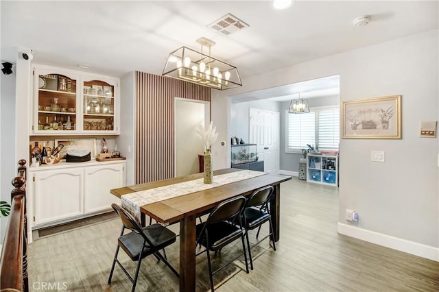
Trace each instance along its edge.
{"label": "left arched glass door of the upper cabinet, with brown shelves", "polygon": [[[68,134],[75,131],[78,121],[78,76],[36,71],[36,133]],[[38,87],[38,88],[37,88]]]}

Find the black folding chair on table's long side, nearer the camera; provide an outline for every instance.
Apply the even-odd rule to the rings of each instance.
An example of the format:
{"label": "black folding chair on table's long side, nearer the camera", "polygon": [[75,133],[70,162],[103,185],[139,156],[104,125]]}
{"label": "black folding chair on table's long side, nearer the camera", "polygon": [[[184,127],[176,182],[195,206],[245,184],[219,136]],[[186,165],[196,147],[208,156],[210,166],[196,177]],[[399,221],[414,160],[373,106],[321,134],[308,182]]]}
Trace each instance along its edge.
{"label": "black folding chair on table's long side, nearer the camera", "polygon": [[[246,198],[244,196],[228,199],[217,205],[204,223],[200,223],[196,226],[197,244],[206,248],[206,250],[199,252],[197,255],[207,252],[207,264],[209,267],[209,279],[212,291],[214,291],[213,275],[217,273],[217,271],[230,265],[230,263],[233,263],[233,261],[237,260],[237,258],[243,254],[246,262],[246,273],[249,273],[246,244],[244,243],[244,234],[246,232],[241,221],[241,212],[244,208],[244,204],[246,204]],[[230,223],[230,221],[235,221],[235,224]],[[212,271],[210,251],[216,254],[221,251],[223,247],[233,243],[237,239],[241,239],[244,253],[240,253],[233,258],[233,260]]]}

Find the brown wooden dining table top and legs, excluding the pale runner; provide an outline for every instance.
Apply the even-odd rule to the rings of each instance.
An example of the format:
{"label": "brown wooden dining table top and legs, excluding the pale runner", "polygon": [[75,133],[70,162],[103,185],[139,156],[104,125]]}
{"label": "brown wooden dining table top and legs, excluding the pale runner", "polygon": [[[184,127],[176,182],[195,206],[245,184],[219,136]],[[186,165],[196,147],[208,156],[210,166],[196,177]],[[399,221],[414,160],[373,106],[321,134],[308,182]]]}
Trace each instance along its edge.
{"label": "brown wooden dining table top and legs, excluding the pale runner", "polygon": [[[220,169],[214,171],[213,180],[215,181],[215,175],[234,171],[241,171],[241,169]],[[122,188],[112,189],[110,192],[120,198],[122,195],[145,191],[151,188],[197,180],[202,178],[202,176],[203,173],[196,173],[157,182],[124,186]],[[145,215],[150,216],[159,223],[176,223],[180,221],[180,291],[195,291],[195,219],[208,213],[209,210],[213,209],[217,204],[230,197],[237,195],[247,197],[258,188],[271,185],[274,187],[274,195],[270,202],[270,211],[274,229],[274,240],[278,241],[280,236],[280,184],[287,180],[291,180],[291,177],[264,173],[254,178],[231,182],[204,191],[196,191],[195,193],[189,193],[187,195],[181,195],[179,197],[141,206],[142,224],[145,224]]]}

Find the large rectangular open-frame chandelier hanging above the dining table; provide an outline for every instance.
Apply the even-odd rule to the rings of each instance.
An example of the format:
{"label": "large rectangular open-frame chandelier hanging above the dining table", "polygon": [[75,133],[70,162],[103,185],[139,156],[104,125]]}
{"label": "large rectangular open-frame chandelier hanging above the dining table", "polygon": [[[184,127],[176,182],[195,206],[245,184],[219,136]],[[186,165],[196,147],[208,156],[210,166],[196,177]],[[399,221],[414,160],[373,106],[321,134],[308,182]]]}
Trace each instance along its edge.
{"label": "large rectangular open-frame chandelier hanging above the dining table", "polygon": [[[201,52],[180,47],[169,53],[162,75],[218,90],[242,86],[235,66],[211,57],[211,47],[215,42],[207,38],[199,38],[197,42],[201,45]],[[203,53],[203,47],[209,48],[209,55]]]}

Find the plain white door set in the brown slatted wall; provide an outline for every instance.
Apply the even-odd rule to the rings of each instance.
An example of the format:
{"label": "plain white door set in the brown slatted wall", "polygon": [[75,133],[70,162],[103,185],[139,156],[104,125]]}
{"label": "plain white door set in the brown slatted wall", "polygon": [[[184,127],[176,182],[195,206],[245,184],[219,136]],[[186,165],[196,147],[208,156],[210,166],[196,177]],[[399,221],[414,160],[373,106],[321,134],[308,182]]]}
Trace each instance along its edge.
{"label": "plain white door set in the brown slatted wall", "polygon": [[175,176],[199,172],[198,154],[204,153],[204,144],[195,129],[209,125],[209,102],[193,99],[175,99]]}

